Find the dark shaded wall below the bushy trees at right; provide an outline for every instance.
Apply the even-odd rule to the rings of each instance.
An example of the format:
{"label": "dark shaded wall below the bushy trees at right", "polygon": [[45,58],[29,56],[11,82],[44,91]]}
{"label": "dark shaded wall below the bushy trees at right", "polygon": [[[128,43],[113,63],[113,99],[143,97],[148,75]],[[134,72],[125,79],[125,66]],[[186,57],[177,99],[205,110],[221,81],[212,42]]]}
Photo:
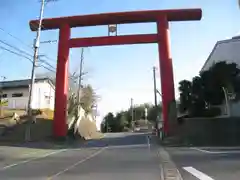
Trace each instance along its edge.
{"label": "dark shaded wall below the bushy trees at right", "polygon": [[240,118],[184,119],[177,127],[177,136],[192,145],[240,145]]}

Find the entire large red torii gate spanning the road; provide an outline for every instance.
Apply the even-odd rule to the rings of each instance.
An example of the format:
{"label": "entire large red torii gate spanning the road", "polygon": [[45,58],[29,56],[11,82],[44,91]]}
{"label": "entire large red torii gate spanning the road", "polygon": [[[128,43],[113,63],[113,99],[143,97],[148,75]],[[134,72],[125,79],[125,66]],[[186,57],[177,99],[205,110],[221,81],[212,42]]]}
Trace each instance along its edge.
{"label": "entire large red torii gate spanning the road", "polygon": [[[159,65],[162,88],[164,132],[169,132],[169,105],[175,100],[172,58],[169,45],[169,21],[200,20],[201,9],[176,9],[105,13],[43,19],[42,30],[60,29],[56,73],[54,136],[67,134],[67,93],[69,48],[106,46],[120,44],[158,43]],[[157,23],[157,34],[70,38],[72,27],[97,26],[127,23]],[[30,28],[36,31],[39,20],[30,21]]]}

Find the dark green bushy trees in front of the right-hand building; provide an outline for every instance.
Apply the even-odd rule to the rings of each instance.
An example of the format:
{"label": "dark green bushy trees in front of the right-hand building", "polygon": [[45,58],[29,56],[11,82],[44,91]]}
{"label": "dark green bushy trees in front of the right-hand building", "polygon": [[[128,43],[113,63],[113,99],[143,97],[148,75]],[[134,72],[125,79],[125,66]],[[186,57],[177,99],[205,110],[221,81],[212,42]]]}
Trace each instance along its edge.
{"label": "dark green bushy trees in front of the right-hand building", "polygon": [[192,81],[181,81],[180,112],[188,112],[193,116],[205,115],[212,105],[223,103],[223,88],[239,96],[239,73],[240,69],[235,63],[219,62],[201,72]]}

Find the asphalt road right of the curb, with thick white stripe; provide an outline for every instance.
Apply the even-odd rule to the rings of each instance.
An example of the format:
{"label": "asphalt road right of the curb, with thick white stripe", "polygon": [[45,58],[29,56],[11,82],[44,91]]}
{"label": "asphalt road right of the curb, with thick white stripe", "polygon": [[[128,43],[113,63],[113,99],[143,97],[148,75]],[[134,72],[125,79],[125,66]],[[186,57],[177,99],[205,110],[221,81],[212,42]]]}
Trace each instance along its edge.
{"label": "asphalt road right of the curb, with thick white stripe", "polygon": [[183,180],[239,180],[238,148],[166,148]]}

